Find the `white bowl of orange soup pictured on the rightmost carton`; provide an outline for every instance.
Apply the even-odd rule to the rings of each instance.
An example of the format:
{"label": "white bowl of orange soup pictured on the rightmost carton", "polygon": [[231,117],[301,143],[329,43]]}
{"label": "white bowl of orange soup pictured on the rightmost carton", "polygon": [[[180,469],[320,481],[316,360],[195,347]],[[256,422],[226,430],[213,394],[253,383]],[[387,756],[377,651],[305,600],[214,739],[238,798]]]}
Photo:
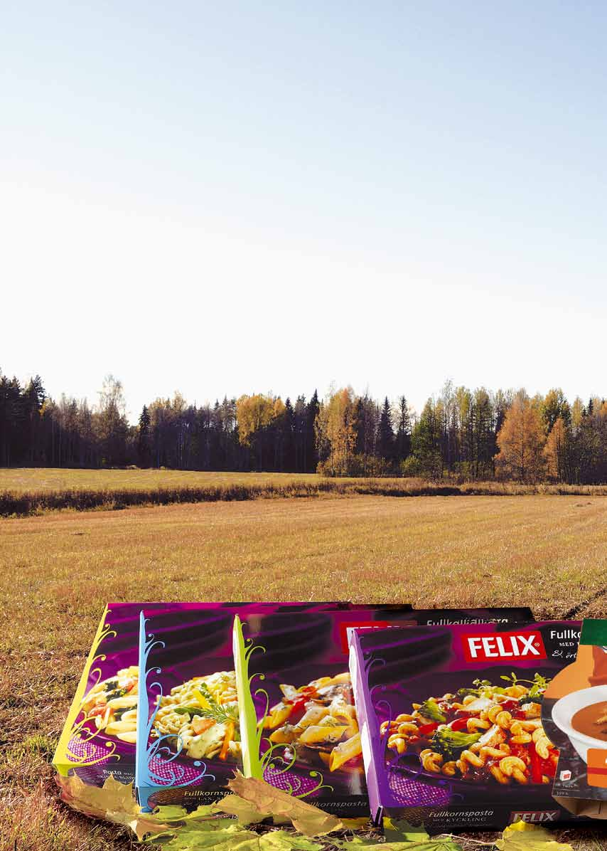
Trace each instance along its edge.
{"label": "white bowl of orange soup pictured on the rightmost carton", "polygon": [[569,736],[584,762],[590,748],[607,750],[607,685],[582,688],[557,700],[553,722]]}

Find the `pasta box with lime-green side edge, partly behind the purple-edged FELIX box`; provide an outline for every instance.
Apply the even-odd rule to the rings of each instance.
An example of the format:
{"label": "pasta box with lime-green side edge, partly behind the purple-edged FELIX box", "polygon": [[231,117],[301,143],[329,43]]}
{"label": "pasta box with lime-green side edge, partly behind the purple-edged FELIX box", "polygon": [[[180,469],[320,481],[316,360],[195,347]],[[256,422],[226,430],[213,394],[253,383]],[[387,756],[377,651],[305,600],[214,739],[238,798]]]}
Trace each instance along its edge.
{"label": "pasta box with lime-green side edge, partly behind the purple-edged FELIX box", "polygon": [[[263,777],[334,814],[369,813],[360,730],[348,668],[348,631],[428,620],[516,623],[528,610],[399,610],[251,614],[235,625],[235,670],[245,774]],[[403,627],[404,630],[405,627]],[[251,718],[245,721],[245,701]]]}

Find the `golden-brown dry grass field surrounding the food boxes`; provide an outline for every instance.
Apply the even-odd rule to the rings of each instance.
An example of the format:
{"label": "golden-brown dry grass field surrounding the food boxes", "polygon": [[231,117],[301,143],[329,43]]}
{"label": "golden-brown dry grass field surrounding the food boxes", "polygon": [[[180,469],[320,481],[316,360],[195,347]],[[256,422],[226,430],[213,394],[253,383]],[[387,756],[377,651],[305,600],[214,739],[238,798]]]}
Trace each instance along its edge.
{"label": "golden-brown dry grass field surrounding the food boxes", "polygon": [[[41,472],[22,487],[63,487]],[[80,472],[84,483],[115,471],[63,475],[73,485]],[[130,847],[117,828],[57,804],[48,764],[106,601],[526,603],[543,617],[607,616],[607,500],[327,494],[57,511],[0,520],[0,576],[0,851],[15,838],[20,851],[117,851]],[[607,833],[574,846],[598,851]]]}

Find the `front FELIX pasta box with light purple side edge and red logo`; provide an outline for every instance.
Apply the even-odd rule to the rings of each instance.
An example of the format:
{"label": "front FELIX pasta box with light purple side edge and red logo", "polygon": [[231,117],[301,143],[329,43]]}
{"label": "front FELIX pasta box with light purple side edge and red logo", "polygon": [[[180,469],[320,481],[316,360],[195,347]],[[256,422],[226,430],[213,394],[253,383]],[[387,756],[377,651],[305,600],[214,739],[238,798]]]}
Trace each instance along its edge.
{"label": "front FELIX pasta box with light purple side edge and red logo", "polygon": [[542,726],[578,621],[350,629],[349,670],[372,817],[431,832],[574,819],[553,798]]}

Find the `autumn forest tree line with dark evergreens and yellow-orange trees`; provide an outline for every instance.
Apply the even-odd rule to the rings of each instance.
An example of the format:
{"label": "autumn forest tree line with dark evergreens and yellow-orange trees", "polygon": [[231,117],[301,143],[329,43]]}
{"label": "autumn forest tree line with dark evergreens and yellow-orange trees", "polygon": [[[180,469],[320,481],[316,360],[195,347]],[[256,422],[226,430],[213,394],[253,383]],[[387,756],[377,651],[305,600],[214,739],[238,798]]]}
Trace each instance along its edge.
{"label": "autumn forest tree line with dark evergreens and yellow-orange trees", "polygon": [[192,405],[181,394],[128,423],[120,381],[98,403],[0,373],[0,466],[168,467],[461,481],[607,483],[607,402],[563,391],[470,391],[447,381],[415,414],[351,387],[319,399],[258,393]]}

